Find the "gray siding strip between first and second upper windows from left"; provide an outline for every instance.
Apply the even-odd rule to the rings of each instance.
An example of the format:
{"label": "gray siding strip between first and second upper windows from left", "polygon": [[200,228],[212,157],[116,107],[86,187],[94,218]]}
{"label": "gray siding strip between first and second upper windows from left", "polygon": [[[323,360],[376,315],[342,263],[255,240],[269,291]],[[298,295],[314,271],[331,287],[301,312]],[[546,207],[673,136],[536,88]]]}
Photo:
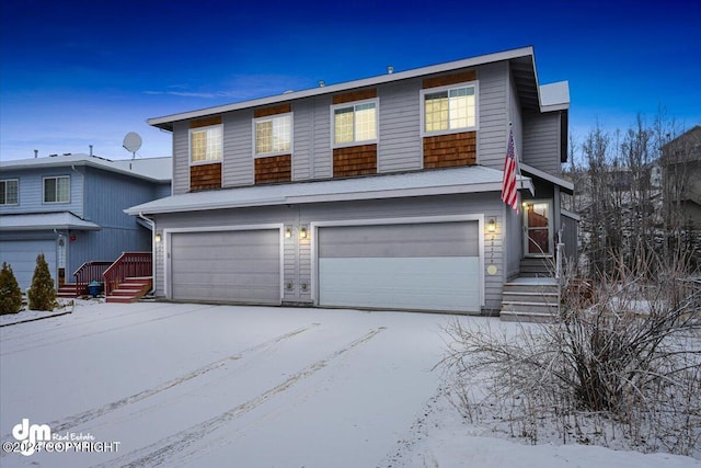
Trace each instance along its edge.
{"label": "gray siding strip between first and second upper windows from left", "polygon": [[251,110],[223,115],[225,187],[253,184],[253,112]]}

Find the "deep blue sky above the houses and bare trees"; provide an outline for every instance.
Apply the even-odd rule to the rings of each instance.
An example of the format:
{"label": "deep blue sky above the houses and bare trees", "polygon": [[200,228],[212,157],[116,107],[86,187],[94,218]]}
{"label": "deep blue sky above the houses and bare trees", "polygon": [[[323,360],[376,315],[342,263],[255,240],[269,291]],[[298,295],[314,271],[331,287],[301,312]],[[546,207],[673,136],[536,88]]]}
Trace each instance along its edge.
{"label": "deep blue sky above the houses and bare trees", "polygon": [[[489,4],[487,4],[489,3]],[[479,4],[479,7],[478,7]],[[701,124],[701,1],[0,0],[0,159],[170,156],[146,119],[531,45],[571,133]]]}

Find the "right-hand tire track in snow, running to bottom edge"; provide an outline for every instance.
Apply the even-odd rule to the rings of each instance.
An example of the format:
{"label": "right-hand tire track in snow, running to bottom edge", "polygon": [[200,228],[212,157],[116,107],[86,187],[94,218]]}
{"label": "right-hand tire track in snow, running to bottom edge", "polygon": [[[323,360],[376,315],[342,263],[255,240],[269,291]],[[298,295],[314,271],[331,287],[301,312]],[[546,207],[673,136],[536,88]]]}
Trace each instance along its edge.
{"label": "right-hand tire track in snow, running to bottom edge", "polygon": [[[165,461],[172,458],[174,455],[183,452],[188,446],[194,444],[195,442],[202,440],[208,434],[211,434],[214,431],[222,427],[228,422],[242,416],[243,414],[255,410],[261,404],[265,403],[267,400],[274,398],[280,392],[284,392],[291,387],[294,387],[299,381],[310,377],[317,372],[325,368],[331,362],[347,353],[348,351],[359,346],[364,343],[370,341],[375,335],[384,330],[386,327],[379,327],[370,330],[363,336],[352,341],[346,346],[337,350],[326,357],[317,361],[315,363],[310,364],[304,367],[300,372],[291,375],[287,380],[279,384],[276,387],[273,387],[265,392],[258,395],[257,397],[245,401],[229,411],[226,411],[218,416],[211,418],[207,421],[203,421],[199,424],[180,431],[175,434],[172,434],[168,437],[164,437],[153,444],[147,445],[140,449],[130,452],[125,454],[116,459],[112,459],[104,464],[97,465],[97,468],[106,468],[106,467],[129,467],[129,468],[140,468],[145,466],[153,467],[161,464],[165,464]],[[187,453],[188,456],[197,453],[197,449],[192,449]]]}

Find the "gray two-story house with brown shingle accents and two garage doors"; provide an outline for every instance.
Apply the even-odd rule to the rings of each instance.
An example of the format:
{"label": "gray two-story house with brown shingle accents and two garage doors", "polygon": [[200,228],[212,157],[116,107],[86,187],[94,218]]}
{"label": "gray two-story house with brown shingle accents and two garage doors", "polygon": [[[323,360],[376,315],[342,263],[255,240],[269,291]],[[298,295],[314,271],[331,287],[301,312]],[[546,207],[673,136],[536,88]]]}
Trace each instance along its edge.
{"label": "gray two-story house with brown shingle accents and two garage doors", "polygon": [[[526,47],[151,118],[173,133],[173,195],[127,213],[156,225],[156,294],[501,310],[524,260],[576,239],[568,101]],[[509,129],[520,214],[501,201]]]}

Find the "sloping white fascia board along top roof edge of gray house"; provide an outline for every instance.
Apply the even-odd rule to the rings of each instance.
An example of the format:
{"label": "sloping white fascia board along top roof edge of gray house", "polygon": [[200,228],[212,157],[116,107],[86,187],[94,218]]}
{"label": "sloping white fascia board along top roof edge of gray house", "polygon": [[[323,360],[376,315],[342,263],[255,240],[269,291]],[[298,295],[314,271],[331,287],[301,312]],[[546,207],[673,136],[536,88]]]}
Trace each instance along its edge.
{"label": "sloping white fascia board along top roof edge of gray house", "polygon": [[[296,92],[290,92],[286,94],[276,94],[273,96],[261,98],[261,99],[255,99],[251,101],[243,101],[243,102],[219,105],[214,107],[206,107],[206,109],[200,109],[196,111],[183,112],[180,114],[165,115],[162,117],[153,117],[153,118],[147,119],[146,122],[149,125],[152,125],[154,127],[163,128],[163,126],[168,127],[166,124],[177,122],[177,121],[204,117],[211,114],[221,114],[225,112],[239,111],[242,109],[256,107],[260,105],[277,104],[280,102],[294,101],[294,100],[315,96],[320,94],[331,94],[331,93],[346,91],[346,90],[356,89],[356,88],[364,88],[364,87],[388,83],[392,81],[406,80],[410,78],[422,77],[425,75],[440,73],[444,71],[456,70],[459,68],[476,67],[484,64],[510,60],[514,58],[525,57],[525,56],[533,57],[533,48],[531,46],[499,52],[495,54],[482,55],[479,57],[466,58],[466,59],[456,60],[456,61],[449,61],[446,64],[438,64],[438,65],[432,65],[428,67],[415,68],[406,71],[386,73],[377,77],[365,78],[365,79],[355,80],[355,81],[347,81],[338,84],[330,84],[325,87],[311,88],[308,90],[296,91]],[[533,62],[533,70],[535,69],[536,69],[536,65]]]}

